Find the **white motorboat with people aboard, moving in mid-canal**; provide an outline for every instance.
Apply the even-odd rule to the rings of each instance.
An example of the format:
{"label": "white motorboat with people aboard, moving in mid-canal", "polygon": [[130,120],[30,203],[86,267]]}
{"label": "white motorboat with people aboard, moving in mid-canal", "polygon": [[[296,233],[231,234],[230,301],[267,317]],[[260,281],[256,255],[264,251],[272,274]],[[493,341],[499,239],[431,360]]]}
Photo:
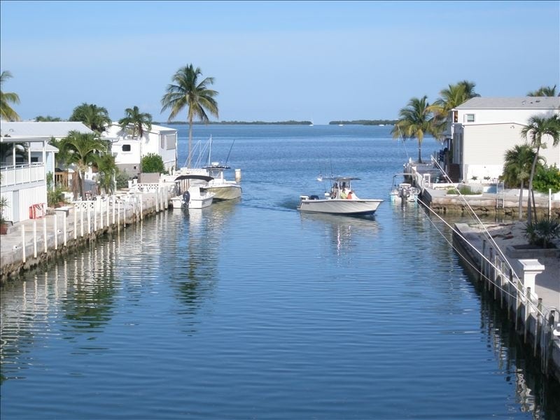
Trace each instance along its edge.
{"label": "white motorboat with people aboard, moving in mid-canal", "polygon": [[309,213],[338,214],[342,216],[371,216],[384,200],[359,198],[352,189],[352,181],[359,178],[332,176],[319,181],[330,181],[330,191],[319,195],[300,195],[297,210]]}

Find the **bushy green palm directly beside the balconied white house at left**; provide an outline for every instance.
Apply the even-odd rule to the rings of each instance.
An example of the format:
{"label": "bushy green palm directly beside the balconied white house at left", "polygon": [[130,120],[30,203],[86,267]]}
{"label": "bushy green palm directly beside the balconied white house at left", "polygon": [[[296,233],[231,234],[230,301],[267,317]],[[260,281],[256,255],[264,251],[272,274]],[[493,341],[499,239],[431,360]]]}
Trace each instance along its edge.
{"label": "bushy green palm directly beside the balconied white house at left", "polygon": [[76,165],[76,176],[73,176],[72,179],[74,200],[78,197],[78,191],[83,200],[85,198],[83,194],[85,171],[95,164],[99,153],[105,153],[107,151],[106,143],[99,139],[95,133],[71,131],[68,137],[64,137],[64,139],[60,141],[59,146],[63,149],[66,163],[69,165]]}

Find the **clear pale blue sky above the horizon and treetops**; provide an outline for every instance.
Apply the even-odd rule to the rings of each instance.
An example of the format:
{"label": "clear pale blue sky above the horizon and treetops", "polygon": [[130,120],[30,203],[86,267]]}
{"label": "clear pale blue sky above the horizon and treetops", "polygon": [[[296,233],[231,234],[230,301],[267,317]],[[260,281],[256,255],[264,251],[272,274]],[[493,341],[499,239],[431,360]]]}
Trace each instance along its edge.
{"label": "clear pale blue sky above the horizon and treetops", "polygon": [[[559,1],[1,1],[0,64],[24,119],[139,106],[181,67],[219,119],[393,119],[460,80],[483,97],[560,90]],[[186,120],[186,114],[179,120]]]}

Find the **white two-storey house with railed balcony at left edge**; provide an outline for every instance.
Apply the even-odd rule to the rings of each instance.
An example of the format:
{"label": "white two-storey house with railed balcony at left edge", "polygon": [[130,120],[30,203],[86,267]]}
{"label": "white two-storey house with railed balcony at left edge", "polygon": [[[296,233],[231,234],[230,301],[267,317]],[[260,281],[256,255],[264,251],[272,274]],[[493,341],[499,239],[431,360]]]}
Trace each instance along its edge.
{"label": "white two-storey house with railed balcony at left edge", "polygon": [[31,209],[46,206],[47,174],[55,173],[58,151],[48,142],[62,139],[73,130],[92,132],[83,123],[74,122],[0,123],[0,193],[8,202],[4,218],[25,221],[32,216]]}

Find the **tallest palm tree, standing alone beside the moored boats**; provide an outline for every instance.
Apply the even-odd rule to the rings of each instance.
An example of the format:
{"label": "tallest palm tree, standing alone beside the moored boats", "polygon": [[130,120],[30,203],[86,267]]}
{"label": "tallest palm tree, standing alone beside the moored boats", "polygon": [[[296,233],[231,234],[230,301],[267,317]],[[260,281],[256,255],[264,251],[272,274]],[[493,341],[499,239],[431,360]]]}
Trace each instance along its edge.
{"label": "tallest palm tree, standing alone beside the moored boats", "polygon": [[187,167],[190,168],[191,144],[193,142],[193,120],[199,118],[203,123],[208,123],[207,112],[218,118],[218,103],[216,97],[218,92],[208,88],[214,84],[213,77],[199,80],[202,71],[199,67],[193,68],[193,64],[181,67],[173,76],[174,84],[167,85],[167,93],[162,97],[162,112],[171,109],[169,122],[185,107],[188,107],[188,158]]}

